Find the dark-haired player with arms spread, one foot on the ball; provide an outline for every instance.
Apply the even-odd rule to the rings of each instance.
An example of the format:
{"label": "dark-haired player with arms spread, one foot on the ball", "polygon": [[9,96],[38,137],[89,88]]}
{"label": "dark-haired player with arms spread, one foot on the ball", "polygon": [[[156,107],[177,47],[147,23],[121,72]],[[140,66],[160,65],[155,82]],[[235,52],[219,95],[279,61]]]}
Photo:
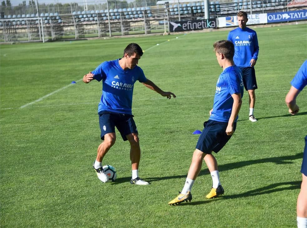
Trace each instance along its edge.
{"label": "dark-haired player with arms spread, one foot on the ball", "polygon": [[139,178],[139,162],[141,149],[138,131],[131,111],[133,87],[136,81],[171,99],[176,97],[172,92],[164,92],[152,81],[147,79],[143,70],[137,66],[143,55],[141,47],[130,43],[124,50],[122,58],[101,63],[94,71],[84,75],[83,82],[89,83],[93,79],[102,80],[102,96],[98,105],[99,125],[101,139],[104,140],[97,150],[97,157],[93,164],[98,178],[107,182],[108,176],[102,168],[102,159],[114,145],[116,140],[115,126],[124,141],[130,143],[130,160],[132,166],[131,184],[149,185],[149,182]]}

